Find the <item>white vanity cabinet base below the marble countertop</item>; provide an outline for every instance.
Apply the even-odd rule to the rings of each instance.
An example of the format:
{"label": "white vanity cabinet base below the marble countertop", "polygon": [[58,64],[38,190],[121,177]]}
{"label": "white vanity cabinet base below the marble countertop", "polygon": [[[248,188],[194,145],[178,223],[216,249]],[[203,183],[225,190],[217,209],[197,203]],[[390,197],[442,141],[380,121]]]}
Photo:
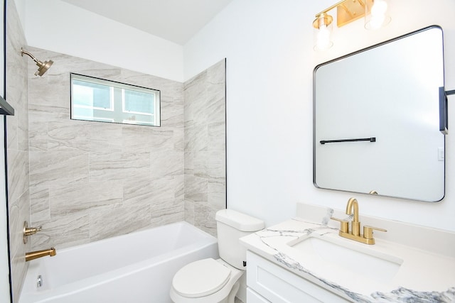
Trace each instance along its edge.
{"label": "white vanity cabinet base below the marble countertop", "polygon": [[247,250],[247,302],[350,302]]}

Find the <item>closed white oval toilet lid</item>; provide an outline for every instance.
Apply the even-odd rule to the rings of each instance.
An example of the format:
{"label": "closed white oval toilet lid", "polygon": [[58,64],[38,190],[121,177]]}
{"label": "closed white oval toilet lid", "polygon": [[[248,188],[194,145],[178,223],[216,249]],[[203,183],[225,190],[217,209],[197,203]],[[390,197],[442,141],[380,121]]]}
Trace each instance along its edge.
{"label": "closed white oval toilet lid", "polygon": [[204,297],[218,292],[228,282],[230,269],[209,258],[183,266],[173,276],[172,287],[183,297]]}

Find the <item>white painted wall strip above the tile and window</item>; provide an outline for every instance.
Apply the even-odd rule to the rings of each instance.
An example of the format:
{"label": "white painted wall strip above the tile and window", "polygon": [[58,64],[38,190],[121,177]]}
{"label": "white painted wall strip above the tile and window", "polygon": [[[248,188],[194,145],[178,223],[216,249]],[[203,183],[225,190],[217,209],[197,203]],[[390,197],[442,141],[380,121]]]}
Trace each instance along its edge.
{"label": "white painted wall strip above the tile and window", "polygon": [[181,45],[63,1],[16,2],[28,45],[183,82]]}

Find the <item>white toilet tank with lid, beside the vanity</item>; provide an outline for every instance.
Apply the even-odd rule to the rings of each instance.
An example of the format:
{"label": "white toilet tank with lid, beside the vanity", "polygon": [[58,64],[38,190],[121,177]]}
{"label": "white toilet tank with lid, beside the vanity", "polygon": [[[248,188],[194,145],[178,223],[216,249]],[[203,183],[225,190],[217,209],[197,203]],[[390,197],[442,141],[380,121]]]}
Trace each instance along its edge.
{"label": "white toilet tank with lid, beside the vanity", "polygon": [[239,238],[264,228],[264,221],[242,214],[232,209],[222,209],[215,216],[218,233],[218,250],[225,262],[245,270],[247,249],[240,244]]}

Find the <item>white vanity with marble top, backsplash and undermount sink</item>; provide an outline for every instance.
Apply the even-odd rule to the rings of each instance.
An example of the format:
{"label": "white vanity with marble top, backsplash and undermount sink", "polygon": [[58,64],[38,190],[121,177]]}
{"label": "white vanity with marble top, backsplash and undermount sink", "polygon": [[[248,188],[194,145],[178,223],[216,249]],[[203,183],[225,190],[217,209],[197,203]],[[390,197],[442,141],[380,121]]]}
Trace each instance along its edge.
{"label": "white vanity with marble top, backsplash and undermount sink", "polygon": [[373,245],[340,236],[343,223],[331,217],[352,214],[311,204],[241,238],[247,302],[455,302],[455,233],[362,216],[361,202],[359,209],[362,226],[387,230],[375,231]]}

